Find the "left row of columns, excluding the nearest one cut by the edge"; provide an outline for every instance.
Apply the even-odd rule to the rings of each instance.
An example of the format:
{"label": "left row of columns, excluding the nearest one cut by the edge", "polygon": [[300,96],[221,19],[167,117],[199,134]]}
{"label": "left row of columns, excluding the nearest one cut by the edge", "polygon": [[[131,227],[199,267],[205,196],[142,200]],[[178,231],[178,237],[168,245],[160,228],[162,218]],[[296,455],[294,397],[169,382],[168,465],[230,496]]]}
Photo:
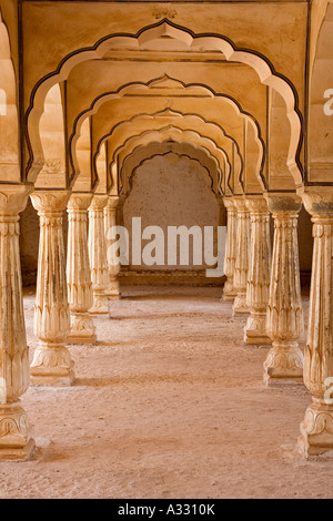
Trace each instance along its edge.
{"label": "left row of columns, excluding the nearest one cut by the edge", "polygon": [[[40,344],[30,368],[31,381],[72,385],[73,361],[65,344],[94,344],[92,316],[107,314],[109,295],[119,294],[114,284],[118,272],[108,265],[105,241],[108,226],[115,224],[118,198],[36,191],[31,200],[40,219],[34,306],[34,333]],[[67,262],[62,229],[65,210]]]}

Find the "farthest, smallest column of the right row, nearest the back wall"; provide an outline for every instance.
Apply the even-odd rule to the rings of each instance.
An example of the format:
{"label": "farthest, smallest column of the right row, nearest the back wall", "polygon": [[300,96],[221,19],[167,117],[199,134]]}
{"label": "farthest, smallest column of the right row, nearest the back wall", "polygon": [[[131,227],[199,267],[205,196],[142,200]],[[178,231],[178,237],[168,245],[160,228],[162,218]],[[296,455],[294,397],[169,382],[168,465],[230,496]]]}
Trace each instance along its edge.
{"label": "farthest, smallest column of the right row, nearest the back wall", "polygon": [[233,300],[236,290],[233,286],[235,255],[236,255],[236,210],[231,197],[223,198],[226,208],[226,244],[224,258],[224,274],[226,280],[223,287],[223,300]]}

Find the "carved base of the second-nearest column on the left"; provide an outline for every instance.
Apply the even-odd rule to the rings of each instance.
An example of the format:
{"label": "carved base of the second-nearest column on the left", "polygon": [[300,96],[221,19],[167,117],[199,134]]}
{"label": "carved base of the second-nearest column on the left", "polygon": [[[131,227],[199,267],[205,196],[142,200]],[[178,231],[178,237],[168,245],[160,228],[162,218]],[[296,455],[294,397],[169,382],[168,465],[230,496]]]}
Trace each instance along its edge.
{"label": "carved base of the second-nearest column on the left", "polygon": [[62,344],[41,345],[33,355],[30,379],[34,386],[71,386],[74,381],[74,362]]}

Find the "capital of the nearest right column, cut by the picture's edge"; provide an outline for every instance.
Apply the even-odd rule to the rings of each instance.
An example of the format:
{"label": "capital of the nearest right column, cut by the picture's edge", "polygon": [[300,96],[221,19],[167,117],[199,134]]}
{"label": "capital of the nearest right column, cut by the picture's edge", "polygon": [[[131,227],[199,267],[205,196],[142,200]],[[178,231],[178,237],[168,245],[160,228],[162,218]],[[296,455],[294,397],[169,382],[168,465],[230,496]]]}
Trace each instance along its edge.
{"label": "capital of the nearest right column, cut by the picture's edge", "polygon": [[297,194],[313,217],[333,216],[333,186],[303,186]]}

